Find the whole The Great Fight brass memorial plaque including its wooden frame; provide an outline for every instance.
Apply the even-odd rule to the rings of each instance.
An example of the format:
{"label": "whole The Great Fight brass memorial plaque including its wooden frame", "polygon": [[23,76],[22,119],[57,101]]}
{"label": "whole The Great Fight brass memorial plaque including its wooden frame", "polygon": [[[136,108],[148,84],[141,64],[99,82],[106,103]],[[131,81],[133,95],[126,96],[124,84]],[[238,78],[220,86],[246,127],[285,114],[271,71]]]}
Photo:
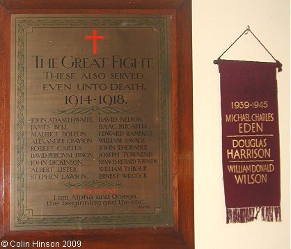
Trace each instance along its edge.
{"label": "whole The Great Fight brass memorial plaque including its wooden frame", "polygon": [[1,246],[194,248],[191,1],[0,3]]}

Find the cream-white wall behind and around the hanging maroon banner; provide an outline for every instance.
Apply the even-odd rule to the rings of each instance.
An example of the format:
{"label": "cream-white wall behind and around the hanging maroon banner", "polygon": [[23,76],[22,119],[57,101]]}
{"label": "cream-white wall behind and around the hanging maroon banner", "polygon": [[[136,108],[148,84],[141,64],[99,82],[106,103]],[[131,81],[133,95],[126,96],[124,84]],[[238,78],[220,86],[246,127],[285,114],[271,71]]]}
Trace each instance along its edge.
{"label": "cream-white wall behind and around the hanging maroon banner", "polygon": [[[290,0],[193,0],[196,249],[290,248]],[[283,63],[277,74],[281,223],[226,225],[218,66],[212,61],[246,29]],[[222,58],[272,61],[249,33]]]}

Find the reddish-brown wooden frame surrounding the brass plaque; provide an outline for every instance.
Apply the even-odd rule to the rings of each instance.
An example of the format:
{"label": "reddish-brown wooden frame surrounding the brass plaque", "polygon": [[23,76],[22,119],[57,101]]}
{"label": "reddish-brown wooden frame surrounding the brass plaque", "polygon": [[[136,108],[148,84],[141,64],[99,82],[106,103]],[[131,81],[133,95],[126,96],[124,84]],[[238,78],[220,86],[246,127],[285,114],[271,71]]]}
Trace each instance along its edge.
{"label": "reddish-brown wooden frame surrounding the brass plaque", "polygon": [[[13,13],[170,14],[172,51],[174,227],[11,232],[10,20]],[[194,248],[191,0],[0,0],[1,241],[81,240],[81,248]]]}

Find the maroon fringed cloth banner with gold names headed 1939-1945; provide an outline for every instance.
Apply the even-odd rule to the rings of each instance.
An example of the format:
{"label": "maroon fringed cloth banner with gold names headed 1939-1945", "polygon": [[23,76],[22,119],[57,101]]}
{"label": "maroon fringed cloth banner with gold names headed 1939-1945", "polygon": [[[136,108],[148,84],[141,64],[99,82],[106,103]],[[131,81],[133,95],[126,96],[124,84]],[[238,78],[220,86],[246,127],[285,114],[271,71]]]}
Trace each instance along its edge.
{"label": "maroon fringed cloth banner with gold names headed 1939-1945", "polygon": [[276,63],[219,60],[226,223],[281,221]]}

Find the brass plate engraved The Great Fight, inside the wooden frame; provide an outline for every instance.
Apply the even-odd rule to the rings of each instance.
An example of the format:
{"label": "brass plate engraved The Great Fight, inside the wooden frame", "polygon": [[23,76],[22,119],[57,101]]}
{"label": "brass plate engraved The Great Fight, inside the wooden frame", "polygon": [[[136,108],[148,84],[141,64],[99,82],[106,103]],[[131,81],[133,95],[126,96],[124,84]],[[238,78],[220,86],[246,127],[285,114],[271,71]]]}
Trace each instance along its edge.
{"label": "brass plate engraved The Great Fight, inside the wooden frame", "polygon": [[173,226],[168,15],[12,15],[10,230]]}

